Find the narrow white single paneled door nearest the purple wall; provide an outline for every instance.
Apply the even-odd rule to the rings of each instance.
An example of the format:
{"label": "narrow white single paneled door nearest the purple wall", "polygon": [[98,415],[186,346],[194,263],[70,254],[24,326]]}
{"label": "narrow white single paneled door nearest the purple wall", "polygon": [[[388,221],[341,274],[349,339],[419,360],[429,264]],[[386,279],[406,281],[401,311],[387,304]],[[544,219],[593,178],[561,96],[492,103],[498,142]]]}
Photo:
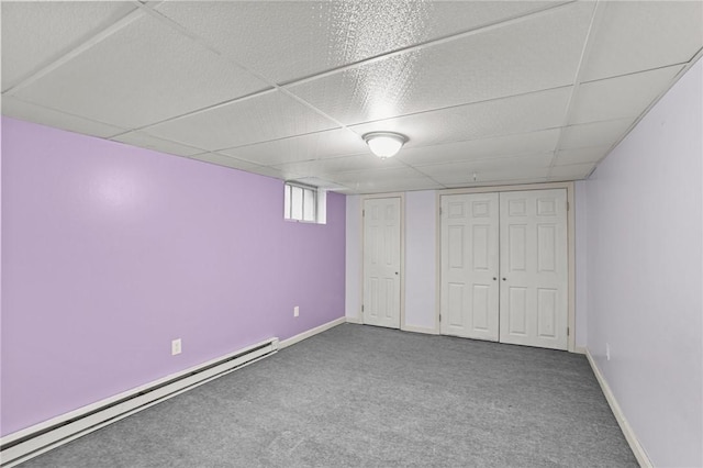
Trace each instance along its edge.
{"label": "narrow white single paneled door nearest the purple wall", "polygon": [[400,328],[400,198],[364,202],[364,323]]}

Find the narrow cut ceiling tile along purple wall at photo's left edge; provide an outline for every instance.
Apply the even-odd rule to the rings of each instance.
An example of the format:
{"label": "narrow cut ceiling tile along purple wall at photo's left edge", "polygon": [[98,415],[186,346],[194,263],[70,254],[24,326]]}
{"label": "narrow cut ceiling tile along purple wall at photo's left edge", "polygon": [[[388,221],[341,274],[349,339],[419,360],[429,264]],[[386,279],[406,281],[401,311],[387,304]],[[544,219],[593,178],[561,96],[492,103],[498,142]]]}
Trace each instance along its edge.
{"label": "narrow cut ceiling tile along purple wall at photo's left edge", "polygon": [[125,131],[119,126],[42,108],[11,96],[2,97],[2,115],[102,138],[109,138]]}

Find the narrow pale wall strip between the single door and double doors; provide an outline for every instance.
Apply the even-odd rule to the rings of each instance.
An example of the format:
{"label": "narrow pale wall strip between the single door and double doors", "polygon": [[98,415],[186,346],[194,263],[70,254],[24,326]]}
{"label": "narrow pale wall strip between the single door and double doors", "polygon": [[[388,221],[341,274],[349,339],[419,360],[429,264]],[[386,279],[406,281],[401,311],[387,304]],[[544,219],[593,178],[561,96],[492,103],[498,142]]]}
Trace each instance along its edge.
{"label": "narrow pale wall strip between the single door and double doors", "polygon": [[435,333],[436,192],[405,193],[405,328]]}

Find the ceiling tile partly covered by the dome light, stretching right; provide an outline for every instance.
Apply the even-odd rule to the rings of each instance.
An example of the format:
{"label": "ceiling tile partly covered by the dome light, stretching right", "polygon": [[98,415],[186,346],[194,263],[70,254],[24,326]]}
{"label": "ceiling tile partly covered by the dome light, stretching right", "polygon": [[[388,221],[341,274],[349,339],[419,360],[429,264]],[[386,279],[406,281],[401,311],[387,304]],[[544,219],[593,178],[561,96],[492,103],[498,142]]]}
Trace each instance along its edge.
{"label": "ceiling tile partly covered by the dome light, stretching right", "polygon": [[[555,129],[563,123],[570,88],[516,96],[388,119],[352,127],[367,132],[400,132],[406,148]],[[403,149],[405,151],[405,149]]]}

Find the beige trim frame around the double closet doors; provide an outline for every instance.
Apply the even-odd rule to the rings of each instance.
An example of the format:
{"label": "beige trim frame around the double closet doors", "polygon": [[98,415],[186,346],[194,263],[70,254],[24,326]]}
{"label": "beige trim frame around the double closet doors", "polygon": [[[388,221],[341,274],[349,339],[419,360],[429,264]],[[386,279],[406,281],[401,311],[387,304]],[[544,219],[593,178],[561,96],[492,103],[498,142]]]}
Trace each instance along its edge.
{"label": "beige trim frame around the double closet doors", "polygon": [[[545,182],[545,183],[529,183],[518,186],[484,186],[484,187],[468,187],[462,189],[446,189],[437,190],[435,197],[435,213],[436,213],[436,291],[442,289],[442,214],[439,209],[442,208],[442,197],[451,194],[467,194],[467,193],[487,193],[487,192],[515,192],[524,190],[549,190],[549,189],[566,189],[567,191],[567,261],[568,261],[568,280],[567,280],[567,294],[568,294],[568,347],[569,353],[577,353],[576,347],[576,213],[573,203],[574,185],[573,182]],[[439,331],[439,300],[438,292],[435,297],[435,333],[440,334]]]}

